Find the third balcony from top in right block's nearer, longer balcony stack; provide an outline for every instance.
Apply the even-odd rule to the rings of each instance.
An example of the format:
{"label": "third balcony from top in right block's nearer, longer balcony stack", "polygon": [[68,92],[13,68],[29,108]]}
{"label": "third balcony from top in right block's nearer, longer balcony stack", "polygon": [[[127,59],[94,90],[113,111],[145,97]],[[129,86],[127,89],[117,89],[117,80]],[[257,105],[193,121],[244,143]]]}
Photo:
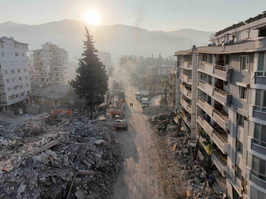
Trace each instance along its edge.
{"label": "third balcony from top in right block's nearer, longer balcony stack", "polygon": [[224,131],[229,130],[230,118],[228,113],[223,110],[216,110],[208,104],[204,99],[198,96],[197,105],[204,110]]}

